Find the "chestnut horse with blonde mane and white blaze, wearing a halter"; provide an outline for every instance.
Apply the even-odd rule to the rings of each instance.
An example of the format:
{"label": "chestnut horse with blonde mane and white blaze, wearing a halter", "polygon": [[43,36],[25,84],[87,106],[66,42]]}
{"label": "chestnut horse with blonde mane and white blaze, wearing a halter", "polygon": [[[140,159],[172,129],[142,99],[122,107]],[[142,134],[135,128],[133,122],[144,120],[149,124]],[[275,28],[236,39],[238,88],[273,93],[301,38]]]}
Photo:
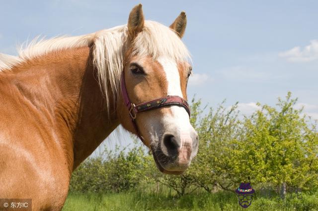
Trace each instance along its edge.
{"label": "chestnut horse with blonde mane and white blaze, wearing a halter", "polygon": [[182,174],[198,150],[185,28],[185,12],[167,27],[145,20],[139,4],[125,25],[2,54],[0,197],[61,210],[72,172],[120,124],[161,172]]}

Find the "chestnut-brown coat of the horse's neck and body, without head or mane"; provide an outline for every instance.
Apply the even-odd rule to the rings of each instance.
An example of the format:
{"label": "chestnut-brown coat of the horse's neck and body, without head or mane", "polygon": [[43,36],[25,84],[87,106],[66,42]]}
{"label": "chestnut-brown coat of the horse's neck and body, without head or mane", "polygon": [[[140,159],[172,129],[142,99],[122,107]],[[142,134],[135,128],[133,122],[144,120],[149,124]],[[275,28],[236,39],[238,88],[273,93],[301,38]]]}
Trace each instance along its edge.
{"label": "chestnut-brown coat of the horse's neck and body, without head or mane", "polygon": [[41,210],[63,206],[73,169],[119,124],[107,116],[89,48],[43,60],[0,72],[0,197],[32,198]]}

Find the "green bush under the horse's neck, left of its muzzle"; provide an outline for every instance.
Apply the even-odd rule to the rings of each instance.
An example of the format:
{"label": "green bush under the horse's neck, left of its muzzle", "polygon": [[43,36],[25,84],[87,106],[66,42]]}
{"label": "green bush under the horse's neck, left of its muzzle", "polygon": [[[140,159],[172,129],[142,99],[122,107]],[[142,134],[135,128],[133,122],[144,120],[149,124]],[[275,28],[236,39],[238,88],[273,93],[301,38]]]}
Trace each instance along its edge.
{"label": "green bush under the horse's neck, left of its muzzle", "polygon": [[116,146],[115,151],[105,150],[96,158],[87,158],[73,172],[71,192],[121,192],[135,188],[147,180],[151,157],[141,145],[126,148]]}

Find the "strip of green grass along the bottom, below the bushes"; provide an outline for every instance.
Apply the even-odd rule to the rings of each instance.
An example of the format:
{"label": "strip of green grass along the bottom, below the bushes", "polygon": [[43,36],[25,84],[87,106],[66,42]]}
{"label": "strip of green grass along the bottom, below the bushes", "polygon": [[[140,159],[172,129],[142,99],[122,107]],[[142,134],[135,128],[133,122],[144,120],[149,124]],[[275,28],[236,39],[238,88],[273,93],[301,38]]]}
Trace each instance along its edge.
{"label": "strip of green grass along the bottom, below the bushes", "polygon": [[[76,194],[70,193],[63,211],[238,211],[237,196],[231,192],[195,193],[183,197],[172,197],[170,193]],[[278,196],[253,199],[250,211],[318,211],[318,193],[302,198],[287,195],[282,201]]]}

